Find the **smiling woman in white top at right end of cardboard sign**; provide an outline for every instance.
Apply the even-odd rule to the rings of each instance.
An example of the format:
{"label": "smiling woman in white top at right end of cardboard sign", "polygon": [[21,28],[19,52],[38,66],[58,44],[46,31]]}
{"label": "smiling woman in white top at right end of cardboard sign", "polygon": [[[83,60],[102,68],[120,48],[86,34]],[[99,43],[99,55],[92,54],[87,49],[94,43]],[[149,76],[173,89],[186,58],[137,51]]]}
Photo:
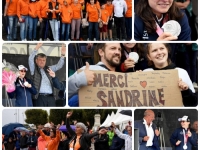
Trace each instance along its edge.
{"label": "smiling woman in white top at right end of cardboard sign", "polygon": [[149,43],[147,44],[147,58],[152,68],[144,71],[152,70],[168,70],[177,69],[179,75],[178,86],[182,94],[184,106],[197,106],[197,96],[186,70],[178,68],[169,58],[170,46],[166,43]]}

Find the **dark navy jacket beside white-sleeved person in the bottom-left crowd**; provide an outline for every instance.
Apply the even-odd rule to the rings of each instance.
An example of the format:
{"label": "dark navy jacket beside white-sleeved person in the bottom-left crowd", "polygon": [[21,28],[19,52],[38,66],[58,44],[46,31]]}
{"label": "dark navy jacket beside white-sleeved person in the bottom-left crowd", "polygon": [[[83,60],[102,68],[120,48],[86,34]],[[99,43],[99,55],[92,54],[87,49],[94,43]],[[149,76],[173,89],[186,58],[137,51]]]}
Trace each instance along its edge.
{"label": "dark navy jacket beside white-sleeved person in the bottom-left crowd", "polygon": [[115,134],[112,139],[112,144],[110,145],[110,150],[121,150],[124,146],[124,139],[121,139]]}

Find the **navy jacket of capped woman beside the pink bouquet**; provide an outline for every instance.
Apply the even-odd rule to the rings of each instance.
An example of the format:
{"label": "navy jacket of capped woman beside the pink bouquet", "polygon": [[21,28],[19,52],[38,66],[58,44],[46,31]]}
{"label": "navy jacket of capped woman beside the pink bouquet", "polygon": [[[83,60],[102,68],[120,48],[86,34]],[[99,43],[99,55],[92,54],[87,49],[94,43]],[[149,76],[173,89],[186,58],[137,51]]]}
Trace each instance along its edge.
{"label": "navy jacket of capped woman beside the pink bouquet", "polygon": [[15,101],[15,106],[17,107],[23,107],[23,106],[33,106],[32,104],[32,98],[31,95],[35,95],[37,94],[37,90],[35,88],[35,86],[33,85],[33,82],[30,79],[25,78],[26,81],[31,84],[31,88],[27,88],[27,87],[22,87],[19,83],[19,78],[17,78],[16,82],[15,82],[15,91],[8,93],[8,96],[10,98],[16,98]]}

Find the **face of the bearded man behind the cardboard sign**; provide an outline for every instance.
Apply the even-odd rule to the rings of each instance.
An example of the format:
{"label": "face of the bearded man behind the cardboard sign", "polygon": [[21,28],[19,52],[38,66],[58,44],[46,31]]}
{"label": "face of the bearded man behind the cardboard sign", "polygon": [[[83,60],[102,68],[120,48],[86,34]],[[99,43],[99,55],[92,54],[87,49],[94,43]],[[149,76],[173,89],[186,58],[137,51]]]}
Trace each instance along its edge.
{"label": "face of the bearded man behind the cardboard sign", "polygon": [[117,67],[121,60],[121,46],[119,43],[107,43],[104,50],[99,50],[99,55],[108,68]]}

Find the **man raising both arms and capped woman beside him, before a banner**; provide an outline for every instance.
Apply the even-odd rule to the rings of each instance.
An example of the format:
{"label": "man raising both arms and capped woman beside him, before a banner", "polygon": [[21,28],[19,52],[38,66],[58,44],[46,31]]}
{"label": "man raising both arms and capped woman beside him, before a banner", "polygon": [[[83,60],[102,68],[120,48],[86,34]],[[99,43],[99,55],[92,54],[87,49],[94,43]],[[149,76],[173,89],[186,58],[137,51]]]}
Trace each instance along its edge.
{"label": "man raising both arms and capped woman beside him, before a banner", "polygon": [[66,81],[59,81],[55,76],[55,72],[65,63],[66,47],[62,45],[58,63],[47,66],[47,56],[38,53],[41,46],[42,44],[38,43],[28,59],[31,79],[26,77],[28,69],[24,65],[19,65],[19,77],[15,81],[15,90],[7,91],[9,98],[15,97],[16,107],[55,107],[55,88],[60,90],[58,96],[63,99],[62,106],[66,105]]}

